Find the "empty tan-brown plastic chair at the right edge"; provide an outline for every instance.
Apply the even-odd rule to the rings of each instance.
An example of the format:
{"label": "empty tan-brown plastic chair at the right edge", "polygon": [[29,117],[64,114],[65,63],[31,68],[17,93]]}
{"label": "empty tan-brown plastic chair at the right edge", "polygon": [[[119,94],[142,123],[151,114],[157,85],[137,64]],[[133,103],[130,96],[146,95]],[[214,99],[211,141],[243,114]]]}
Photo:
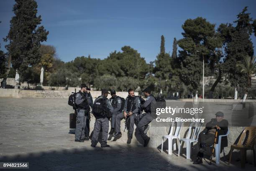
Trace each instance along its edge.
{"label": "empty tan-brown plastic chair at the right edge", "polygon": [[241,151],[241,167],[244,168],[246,163],[246,151],[253,150],[254,167],[256,167],[255,149],[254,149],[255,139],[256,139],[256,127],[246,127],[243,130],[243,133],[238,143],[231,145],[228,164],[230,164],[233,150],[236,149]]}

